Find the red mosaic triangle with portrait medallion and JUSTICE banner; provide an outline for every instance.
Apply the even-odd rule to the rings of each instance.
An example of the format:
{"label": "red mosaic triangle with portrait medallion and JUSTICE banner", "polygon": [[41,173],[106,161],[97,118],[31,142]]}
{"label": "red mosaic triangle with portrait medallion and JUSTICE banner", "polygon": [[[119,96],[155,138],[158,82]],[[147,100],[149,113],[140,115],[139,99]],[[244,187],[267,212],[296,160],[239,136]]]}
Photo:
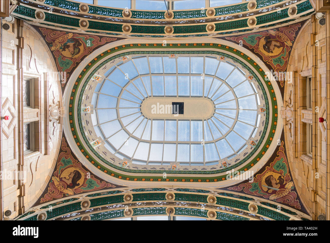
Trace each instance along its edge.
{"label": "red mosaic triangle with portrait medallion and JUSTICE banner", "polygon": [[260,196],[305,211],[291,179],[283,141],[276,154],[274,161],[266,166],[264,171],[260,170],[263,172],[254,176],[252,181],[228,189]]}

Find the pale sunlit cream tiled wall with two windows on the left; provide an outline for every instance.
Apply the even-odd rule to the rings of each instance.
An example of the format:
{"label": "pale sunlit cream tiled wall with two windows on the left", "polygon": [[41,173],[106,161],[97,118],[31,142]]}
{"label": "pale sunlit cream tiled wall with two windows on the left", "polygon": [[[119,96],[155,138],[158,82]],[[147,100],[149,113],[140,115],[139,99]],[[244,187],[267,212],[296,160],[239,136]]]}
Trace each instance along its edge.
{"label": "pale sunlit cream tiled wall with two windows on the left", "polygon": [[[59,82],[50,80],[47,72],[56,72],[56,67],[49,48],[42,37],[33,27],[24,23],[23,37],[24,49],[22,56],[22,68],[24,78],[34,80],[34,107],[30,110],[22,109],[22,99],[19,93],[22,90],[21,80],[18,79],[17,69],[17,21],[9,23],[11,29],[3,30],[3,59],[2,59],[2,115],[9,115],[9,121],[3,120],[2,133],[2,163],[3,163],[3,201],[4,211],[9,209],[13,213],[10,218],[18,215],[19,195],[24,195],[25,211],[37,200],[45,189],[55,158],[58,155],[62,126],[56,118],[49,119],[49,106],[54,100],[61,106],[61,91]],[[21,108],[19,108],[21,106]],[[23,112],[23,122],[34,124],[32,141],[34,150],[24,155],[19,152],[19,143],[22,143],[21,131],[18,125],[21,120],[19,112]],[[46,141],[46,142],[45,142]],[[21,158],[21,159],[20,159]],[[24,186],[19,188],[18,171],[23,164],[21,174],[24,178]],[[7,172],[4,174],[4,172]],[[4,178],[6,175],[6,178]],[[15,177],[14,177],[15,175]],[[23,205],[21,205],[23,206]]]}

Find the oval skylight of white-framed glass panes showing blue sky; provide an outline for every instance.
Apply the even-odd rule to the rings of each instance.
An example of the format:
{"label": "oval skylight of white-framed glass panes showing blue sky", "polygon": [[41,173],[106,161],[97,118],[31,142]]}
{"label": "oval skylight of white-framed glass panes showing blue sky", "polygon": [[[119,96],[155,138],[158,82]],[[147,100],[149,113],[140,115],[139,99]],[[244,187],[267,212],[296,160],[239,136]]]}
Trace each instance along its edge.
{"label": "oval skylight of white-framed glass panes showing blue sky", "polygon": [[[107,152],[140,165],[207,166],[234,163],[260,137],[264,99],[257,82],[238,63],[180,54],[124,59],[98,73],[102,78],[91,99],[93,128]],[[183,114],[168,109],[162,119],[147,116],[141,106],[148,99],[158,113],[161,102],[181,102]],[[196,99],[211,102],[207,118],[198,116],[205,107]],[[197,115],[187,116],[189,110]]]}

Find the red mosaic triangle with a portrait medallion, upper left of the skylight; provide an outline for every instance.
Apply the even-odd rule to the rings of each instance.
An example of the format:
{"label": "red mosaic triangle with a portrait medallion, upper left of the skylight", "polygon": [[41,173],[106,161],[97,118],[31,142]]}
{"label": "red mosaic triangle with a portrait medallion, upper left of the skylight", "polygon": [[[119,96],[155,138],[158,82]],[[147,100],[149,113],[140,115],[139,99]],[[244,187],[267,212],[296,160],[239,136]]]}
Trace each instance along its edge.
{"label": "red mosaic triangle with a portrait medallion, upper left of the skylight", "polygon": [[96,35],[81,35],[46,28],[39,28],[38,31],[49,43],[50,51],[60,71],[62,87],[65,86],[65,81],[84,57],[101,45],[118,39]]}

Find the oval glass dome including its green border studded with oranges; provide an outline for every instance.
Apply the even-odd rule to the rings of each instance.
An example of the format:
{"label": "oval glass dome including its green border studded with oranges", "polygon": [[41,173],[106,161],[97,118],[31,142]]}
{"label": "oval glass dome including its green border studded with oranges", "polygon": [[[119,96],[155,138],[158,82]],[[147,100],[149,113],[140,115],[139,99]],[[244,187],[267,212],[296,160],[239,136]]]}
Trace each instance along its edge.
{"label": "oval glass dome including its green border studded with oranges", "polygon": [[[73,87],[71,130],[89,162],[119,179],[174,181],[189,174],[202,182],[232,169],[247,171],[261,159],[275,133],[276,117],[270,121],[269,114],[277,107],[256,62],[229,46],[140,46],[101,53]],[[164,172],[170,175],[163,178]]]}

